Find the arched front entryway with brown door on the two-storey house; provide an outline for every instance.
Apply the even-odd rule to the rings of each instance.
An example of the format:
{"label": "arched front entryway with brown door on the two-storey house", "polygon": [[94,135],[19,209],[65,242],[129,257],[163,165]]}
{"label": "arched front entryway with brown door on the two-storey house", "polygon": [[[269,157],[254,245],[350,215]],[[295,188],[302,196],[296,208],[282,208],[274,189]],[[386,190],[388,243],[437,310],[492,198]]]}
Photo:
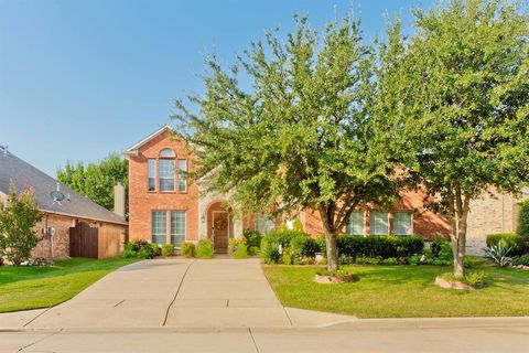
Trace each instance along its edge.
{"label": "arched front entryway with brown door on the two-storey house", "polygon": [[228,253],[229,238],[234,236],[234,222],[230,210],[222,201],[207,208],[207,237],[212,239],[216,254]]}

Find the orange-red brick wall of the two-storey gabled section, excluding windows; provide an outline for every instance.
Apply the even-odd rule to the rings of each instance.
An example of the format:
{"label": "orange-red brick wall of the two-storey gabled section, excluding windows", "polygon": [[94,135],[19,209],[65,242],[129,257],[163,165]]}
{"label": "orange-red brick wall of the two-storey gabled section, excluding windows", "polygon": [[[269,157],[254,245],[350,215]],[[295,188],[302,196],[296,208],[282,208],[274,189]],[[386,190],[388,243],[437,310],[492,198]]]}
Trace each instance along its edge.
{"label": "orange-red brick wall of the two-storey gabled section, excluding windows", "polygon": [[[159,192],[158,174],[156,191],[148,191],[149,158],[158,159],[161,150],[169,148],[176,153],[176,159],[187,159],[190,169],[190,153],[184,141],[175,140],[169,132],[163,132],[140,147],[138,156],[129,157],[129,238],[151,240],[151,212],[152,211],[185,211],[186,212],[186,240],[198,239],[198,188],[194,182],[188,183],[187,192],[177,191],[177,176],[175,176],[175,192]],[[158,165],[158,161],[156,161]],[[158,168],[156,168],[158,170]],[[177,162],[175,162],[177,173]],[[168,214],[168,227],[170,227]],[[168,239],[170,242],[168,229]]]}

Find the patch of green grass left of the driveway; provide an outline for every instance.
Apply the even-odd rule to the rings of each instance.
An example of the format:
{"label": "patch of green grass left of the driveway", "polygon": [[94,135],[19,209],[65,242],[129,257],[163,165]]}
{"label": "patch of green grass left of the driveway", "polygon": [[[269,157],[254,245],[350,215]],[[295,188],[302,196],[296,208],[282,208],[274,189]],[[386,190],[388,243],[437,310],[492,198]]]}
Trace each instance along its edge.
{"label": "patch of green grass left of the driveway", "polygon": [[136,259],[71,258],[43,267],[0,267],[0,312],[48,308]]}

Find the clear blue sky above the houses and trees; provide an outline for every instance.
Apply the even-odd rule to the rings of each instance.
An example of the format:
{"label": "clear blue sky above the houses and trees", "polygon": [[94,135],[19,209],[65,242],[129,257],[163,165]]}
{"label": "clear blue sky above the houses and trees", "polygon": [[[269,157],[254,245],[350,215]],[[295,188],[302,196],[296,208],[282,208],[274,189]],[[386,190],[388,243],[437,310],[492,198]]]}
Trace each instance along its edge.
{"label": "clear blue sky above the houses and trees", "polygon": [[411,31],[433,0],[0,0],[0,145],[55,175],[122,152],[203,92],[205,57],[229,65],[292,14],[323,30],[350,9],[369,40],[384,14]]}

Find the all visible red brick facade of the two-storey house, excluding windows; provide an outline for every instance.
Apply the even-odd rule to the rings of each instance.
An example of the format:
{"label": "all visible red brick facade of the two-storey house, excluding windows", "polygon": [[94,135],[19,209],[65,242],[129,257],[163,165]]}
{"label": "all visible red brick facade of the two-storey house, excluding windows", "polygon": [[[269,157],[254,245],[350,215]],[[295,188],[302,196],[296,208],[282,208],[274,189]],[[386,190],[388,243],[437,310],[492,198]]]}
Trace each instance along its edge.
{"label": "all visible red brick facade of the two-storey house, excluding windows", "polygon": [[[130,238],[142,238],[152,240],[152,212],[166,212],[166,240],[170,243],[171,231],[171,211],[185,211],[185,239],[198,240],[201,237],[212,238],[212,205],[222,202],[223,199],[210,195],[199,196],[198,185],[195,182],[188,182],[187,191],[182,193],[175,188],[174,192],[159,191],[159,179],[156,174],[155,191],[148,190],[148,159],[155,159],[156,173],[160,163],[160,151],[170,149],[175,153],[175,160],[186,159],[190,165],[190,151],[184,141],[174,139],[170,136],[169,128],[163,128],[158,132],[139,142],[126,153],[129,158],[129,234]],[[175,184],[179,183],[177,164],[175,163]],[[208,199],[209,197],[209,199]],[[449,223],[442,217],[422,210],[422,193],[407,192],[402,194],[401,201],[391,211],[386,211],[389,218],[388,234],[393,234],[393,212],[409,211],[412,213],[411,233],[419,234],[427,239],[436,234],[447,236],[450,232]],[[369,210],[365,212],[365,234],[369,234]],[[229,236],[239,236],[244,228],[255,228],[256,217],[245,215],[245,217],[234,217],[230,225]],[[301,221],[304,231],[313,236],[323,233],[321,218],[317,212],[307,210],[302,212]],[[345,231],[345,229],[344,229]]]}

